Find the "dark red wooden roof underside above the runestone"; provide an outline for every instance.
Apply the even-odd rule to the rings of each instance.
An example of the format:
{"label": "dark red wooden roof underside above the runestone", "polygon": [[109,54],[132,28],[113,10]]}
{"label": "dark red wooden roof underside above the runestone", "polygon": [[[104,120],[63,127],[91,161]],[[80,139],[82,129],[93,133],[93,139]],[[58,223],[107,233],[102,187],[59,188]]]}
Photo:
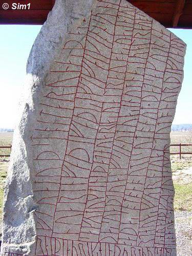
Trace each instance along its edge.
{"label": "dark red wooden roof underside above the runestone", "polygon": [[[5,2],[9,4],[7,10],[3,9]],[[30,10],[12,10],[13,0],[0,0],[0,24],[42,25],[55,0],[14,1],[20,5],[30,2]],[[192,0],[130,0],[129,2],[167,28],[192,28]]]}

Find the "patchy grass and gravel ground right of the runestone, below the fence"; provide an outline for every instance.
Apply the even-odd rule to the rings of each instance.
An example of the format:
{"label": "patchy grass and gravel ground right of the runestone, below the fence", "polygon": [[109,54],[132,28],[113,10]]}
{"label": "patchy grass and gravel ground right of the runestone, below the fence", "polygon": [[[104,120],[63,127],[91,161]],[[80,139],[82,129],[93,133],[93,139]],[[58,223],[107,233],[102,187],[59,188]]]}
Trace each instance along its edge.
{"label": "patchy grass and gravel ground right of the runestone, below the fence", "polygon": [[[192,255],[192,159],[172,158],[177,256]],[[190,166],[188,166],[190,165]],[[176,168],[178,167],[178,168]]]}

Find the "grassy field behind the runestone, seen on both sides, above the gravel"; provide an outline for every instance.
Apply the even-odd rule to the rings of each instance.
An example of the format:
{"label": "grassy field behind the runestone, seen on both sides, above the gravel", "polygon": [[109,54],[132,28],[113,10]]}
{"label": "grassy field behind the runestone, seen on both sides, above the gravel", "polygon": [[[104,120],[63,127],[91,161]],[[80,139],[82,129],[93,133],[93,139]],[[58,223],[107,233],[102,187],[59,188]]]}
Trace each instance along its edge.
{"label": "grassy field behind the runestone, seen on both sides, above the gravel", "polygon": [[[0,145],[11,145],[12,136],[13,133],[0,133]],[[170,139],[172,144],[191,143],[187,141],[187,132],[172,132]],[[178,151],[178,147],[170,148],[170,152]],[[183,147],[183,152],[189,151],[192,152],[192,147]],[[9,153],[9,149],[0,149],[0,155]],[[192,155],[184,155],[181,160],[179,159],[179,155],[172,155],[170,159],[172,162],[173,178],[177,177],[177,179],[174,179],[174,208],[175,210],[192,211],[192,179],[191,175],[185,175],[185,169],[192,168]],[[9,158],[0,158],[0,215],[2,214],[4,186],[9,164],[8,160]]]}

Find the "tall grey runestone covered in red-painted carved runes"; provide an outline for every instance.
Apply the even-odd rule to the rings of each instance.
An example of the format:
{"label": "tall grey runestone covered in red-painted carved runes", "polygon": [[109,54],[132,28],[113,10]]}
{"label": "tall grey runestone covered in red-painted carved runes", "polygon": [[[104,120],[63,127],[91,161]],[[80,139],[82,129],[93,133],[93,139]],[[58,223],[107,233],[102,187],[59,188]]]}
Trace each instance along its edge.
{"label": "tall grey runestone covered in red-painted carved runes", "polygon": [[63,29],[47,70],[31,64],[37,79],[15,135],[25,152],[12,157],[3,250],[176,255],[169,133],[185,44],[125,0],[81,2],[87,13]]}

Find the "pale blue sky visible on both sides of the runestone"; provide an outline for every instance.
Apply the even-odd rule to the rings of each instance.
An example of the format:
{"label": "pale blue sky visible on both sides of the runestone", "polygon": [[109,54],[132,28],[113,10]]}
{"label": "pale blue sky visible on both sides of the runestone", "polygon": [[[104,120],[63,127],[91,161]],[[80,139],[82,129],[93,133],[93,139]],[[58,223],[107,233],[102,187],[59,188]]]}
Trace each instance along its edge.
{"label": "pale blue sky visible on both sides of the runestone", "polygon": [[[13,128],[19,95],[26,75],[26,63],[41,26],[0,25],[0,128]],[[192,30],[172,29],[187,44],[184,81],[174,124],[192,123]]]}

